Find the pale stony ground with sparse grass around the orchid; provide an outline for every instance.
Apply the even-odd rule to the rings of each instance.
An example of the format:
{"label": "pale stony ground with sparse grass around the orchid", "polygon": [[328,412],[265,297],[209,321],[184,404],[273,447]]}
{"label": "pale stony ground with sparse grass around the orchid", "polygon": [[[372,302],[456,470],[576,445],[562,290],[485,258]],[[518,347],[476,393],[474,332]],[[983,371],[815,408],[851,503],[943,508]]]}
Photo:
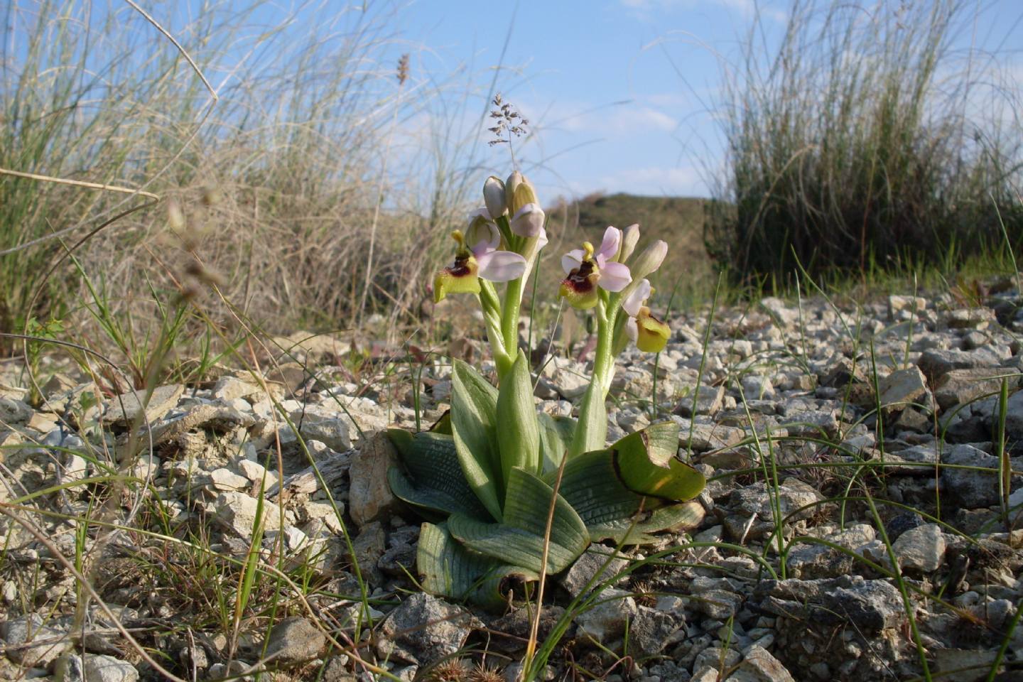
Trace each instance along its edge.
{"label": "pale stony ground with sparse grass around the orchid", "polygon": [[[976,680],[1004,648],[995,679],[1018,679],[1023,314],[1011,285],[994,290],[973,307],[765,299],[715,311],[706,353],[706,311],[672,319],[658,358],[626,351],[609,441],[651,423],[656,391],[678,456],[710,481],[705,516],[610,562],[544,678],[906,680],[923,650],[932,674]],[[586,359],[538,360],[538,408],[572,414]],[[152,661],[196,680],[514,678],[521,600],[488,613],[410,580],[419,519],[388,490],[380,433],[414,427],[408,377],[356,385],[313,349],[280,362],[262,385],[238,372],[149,397],[56,373],[35,406],[4,366],[0,679],[163,679]],[[425,424],[449,376],[425,367]],[[276,573],[235,626],[251,549]],[[555,578],[541,637],[614,551],[594,545]]]}

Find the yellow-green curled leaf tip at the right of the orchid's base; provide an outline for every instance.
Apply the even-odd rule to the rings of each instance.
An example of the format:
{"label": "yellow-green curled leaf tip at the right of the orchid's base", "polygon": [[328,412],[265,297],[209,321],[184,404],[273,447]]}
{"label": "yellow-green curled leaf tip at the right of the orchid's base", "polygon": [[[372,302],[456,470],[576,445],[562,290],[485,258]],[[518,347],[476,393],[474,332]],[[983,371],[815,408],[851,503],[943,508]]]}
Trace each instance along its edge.
{"label": "yellow-green curled leaf tip at the right of the orchid's base", "polygon": [[611,446],[615,468],[629,490],[662,500],[692,500],[707,481],[675,457],[677,449],[678,424],[673,421],[652,424]]}

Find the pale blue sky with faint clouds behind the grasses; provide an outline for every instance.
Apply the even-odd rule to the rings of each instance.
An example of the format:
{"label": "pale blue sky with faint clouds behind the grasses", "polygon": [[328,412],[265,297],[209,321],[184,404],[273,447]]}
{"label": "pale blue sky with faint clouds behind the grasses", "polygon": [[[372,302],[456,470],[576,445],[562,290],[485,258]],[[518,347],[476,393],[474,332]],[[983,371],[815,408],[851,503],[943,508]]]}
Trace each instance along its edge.
{"label": "pale blue sky with faint clouds behind the grasses", "polygon": [[[856,7],[864,12],[879,11],[879,6],[897,12],[900,5],[927,7],[932,1],[936,0],[860,0]],[[431,91],[440,94],[425,98],[429,99],[426,111],[415,110],[419,106],[415,97],[402,100],[405,138],[397,140],[396,147],[414,155],[434,142],[429,135],[439,125],[451,126],[455,137],[476,136],[472,155],[463,153],[464,145],[455,145],[462,154],[452,161],[455,170],[472,165],[503,175],[510,167],[506,146],[488,147],[488,134],[479,125],[488,87],[494,82],[495,89],[531,121],[530,138],[516,144],[517,160],[548,204],[558,195],[595,191],[710,195],[708,181],[724,163],[715,120],[722,70],[727,72],[739,58],[741,41],[755,17],[769,43],[784,29],[792,4],[792,0],[138,2],[202,56],[218,88],[246,79],[291,78],[294,71],[274,71],[280,66],[274,56],[294,52],[301,57],[305,46],[317,40],[326,48],[316,52],[315,63],[303,64],[307,70],[303,75],[311,82],[328,80],[336,73],[332,58],[338,54],[331,50],[345,49],[346,36],[357,33],[353,26],[371,24],[379,49],[367,52],[364,66],[356,63],[374,74],[366,90],[366,108],[371,110],[365,119],[383,128],[389,125],[396,91],[393,64],[402,53],[410,53],[408,88],[415,88],[416,97]],[[24,11],[13,21],[14,31],[5,34],[0,45],[15,61],[19,49],[25,49],[18,39],[35,20],[37,6],[33,0],[20,4]],[[173,53],[174,48],[123,0],[81,0],[75,6],[89,8],[93,30],[113,13],[116,20],[107,30],[136,46],[132,57],[140,64],[151,53]],[[1019,97],[1023,89],[1020,0],[975,0],[964,7],[966,17],[976,16],[976,21],[960,27],[953,47],[997,51],[998,61],[1013,76],[1011,90]],[[204,24],[196,17],[211,12],[239,26],[237,38],[211,44],[197,35]],[[264,35],[278,30],[279,40],[262,42]],[[115,40],[109,49],[101,44],[95,52],[97,58],[115,58],[119,49],[122,44]],[[282,63],[288,69],[294,61],[285,58]],[[191,70],[183,62],[179,65],[177,78],[183,84],[193,81]],[[240,105],[241,110],[253,110],[253,125],[270,123],[279,113],[278,103],[253,96],[246,88],[235,94],[254,100]],[[975,104],[977,110],[987,107],[987,101]],[[1019,128],[1019,119],[1012,123]],[[432,173],[429,158],[422,173]]]}

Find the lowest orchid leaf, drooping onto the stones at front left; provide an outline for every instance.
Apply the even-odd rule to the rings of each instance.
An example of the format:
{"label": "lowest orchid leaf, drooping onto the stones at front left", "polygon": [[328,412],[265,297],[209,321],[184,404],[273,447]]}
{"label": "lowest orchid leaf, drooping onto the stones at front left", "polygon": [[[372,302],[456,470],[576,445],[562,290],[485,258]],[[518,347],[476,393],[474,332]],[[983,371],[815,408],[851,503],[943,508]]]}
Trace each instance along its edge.
{"label": "lowest orchid leaf, drooping onto the stones at front left", "polygon": [[540,579],[522,566],[466,549],[451,537],[445,524],[422,525],[415,561],[422,577],[422,587],[428,592],[452,599],[469,599],[488,608],[500,608],[505,604],[503,593],[508,578]]}

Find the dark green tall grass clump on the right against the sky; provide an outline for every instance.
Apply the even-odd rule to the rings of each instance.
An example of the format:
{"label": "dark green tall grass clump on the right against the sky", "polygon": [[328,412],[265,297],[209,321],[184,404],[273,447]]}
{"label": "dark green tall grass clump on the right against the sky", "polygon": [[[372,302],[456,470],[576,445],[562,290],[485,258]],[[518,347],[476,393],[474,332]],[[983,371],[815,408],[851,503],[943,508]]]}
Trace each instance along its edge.
{"label": "dark green tall grass clump on the right against the sky", "polygon": [[[707,242],[743,284],[947,265],[1023,244],[1018,92],[973,5],[795,0],[728,66]],[[992,204],[993,202],[993,204]],[[1003,212],[1005,244],[998,225]],[[779,282],[779,279],[784,282]]]}

